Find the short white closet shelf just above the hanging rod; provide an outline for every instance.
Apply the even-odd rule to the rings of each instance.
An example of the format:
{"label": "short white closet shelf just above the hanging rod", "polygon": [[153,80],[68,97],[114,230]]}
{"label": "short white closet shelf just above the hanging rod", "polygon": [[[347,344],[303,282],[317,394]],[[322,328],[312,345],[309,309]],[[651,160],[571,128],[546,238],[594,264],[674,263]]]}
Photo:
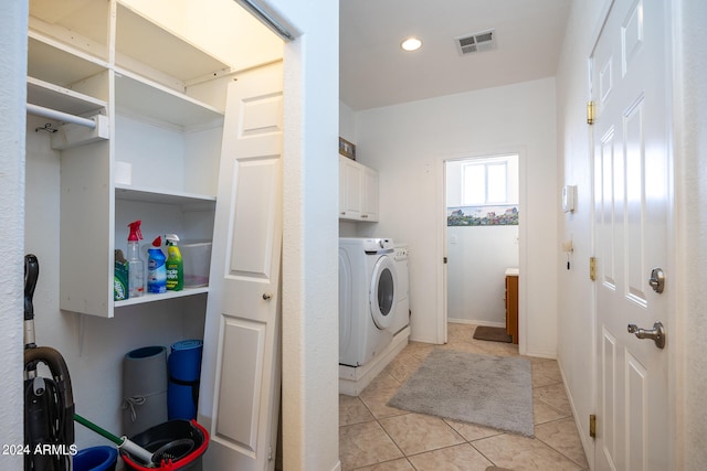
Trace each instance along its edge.
{"label": "short white closet shelf just above the hanging rod", "polygon": [[27,77],[27,101],[77,116],[92,114],[108,106],[102,99],[34,77]]}

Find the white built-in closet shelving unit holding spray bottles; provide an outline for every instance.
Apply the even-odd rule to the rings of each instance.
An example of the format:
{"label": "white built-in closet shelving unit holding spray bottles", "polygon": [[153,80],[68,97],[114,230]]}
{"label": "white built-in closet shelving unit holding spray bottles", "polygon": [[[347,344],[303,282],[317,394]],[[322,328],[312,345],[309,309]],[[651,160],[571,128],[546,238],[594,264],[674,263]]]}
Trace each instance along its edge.
{"label": "white built-in closet shelving unit holding spray bottles", "polygon": [[[120,0],[32,0],[28,35],[28,103],[101,121],[94,130],[57,122],[52,136],[61,150],[61,309],[112,318],[126,306],[208,292],[114,301],[114,250],[125,250],[136,220],[145,244],[165,233],[212,238],[223,127],[223,84],[213,79],[230,66]],[[130,164],[129,184],[116,183],[116,162]]]}

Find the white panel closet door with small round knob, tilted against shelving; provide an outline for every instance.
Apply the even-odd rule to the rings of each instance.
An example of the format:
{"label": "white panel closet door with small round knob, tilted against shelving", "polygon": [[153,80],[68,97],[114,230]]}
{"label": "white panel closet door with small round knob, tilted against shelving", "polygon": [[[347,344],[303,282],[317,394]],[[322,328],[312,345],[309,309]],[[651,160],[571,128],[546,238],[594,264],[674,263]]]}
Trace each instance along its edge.
{"label": "white panel closet door with small round knob, tilted against shelving", "polygon": [[281,397],[283,68],[229,85],[199,421],[204,469],[273,470]]}

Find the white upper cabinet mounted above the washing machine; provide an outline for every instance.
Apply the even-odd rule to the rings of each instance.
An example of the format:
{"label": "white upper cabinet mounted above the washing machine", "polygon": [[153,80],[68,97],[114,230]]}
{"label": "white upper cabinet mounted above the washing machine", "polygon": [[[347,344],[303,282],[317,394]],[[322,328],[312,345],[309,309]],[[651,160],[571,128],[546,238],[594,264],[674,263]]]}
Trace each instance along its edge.
{"label": "white upper cabinet mounted above the washing machine", "polygon": [[339,156],[339,218],[378,221],[378,172]]}

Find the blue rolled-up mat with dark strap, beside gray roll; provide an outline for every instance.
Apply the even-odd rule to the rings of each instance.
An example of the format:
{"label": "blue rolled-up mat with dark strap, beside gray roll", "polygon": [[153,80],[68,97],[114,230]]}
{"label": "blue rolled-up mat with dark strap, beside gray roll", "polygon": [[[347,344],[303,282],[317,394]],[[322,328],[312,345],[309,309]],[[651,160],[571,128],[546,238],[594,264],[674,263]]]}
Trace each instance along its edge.
{"label": "blue rolled-up mat with dark strap, beside gray roll", "polygon": [[199,378],[203,342],[184,340],[173,343],[167,361],[169,385],[167,388],[167,414],[169,420],[197,418],[199,404]]}

